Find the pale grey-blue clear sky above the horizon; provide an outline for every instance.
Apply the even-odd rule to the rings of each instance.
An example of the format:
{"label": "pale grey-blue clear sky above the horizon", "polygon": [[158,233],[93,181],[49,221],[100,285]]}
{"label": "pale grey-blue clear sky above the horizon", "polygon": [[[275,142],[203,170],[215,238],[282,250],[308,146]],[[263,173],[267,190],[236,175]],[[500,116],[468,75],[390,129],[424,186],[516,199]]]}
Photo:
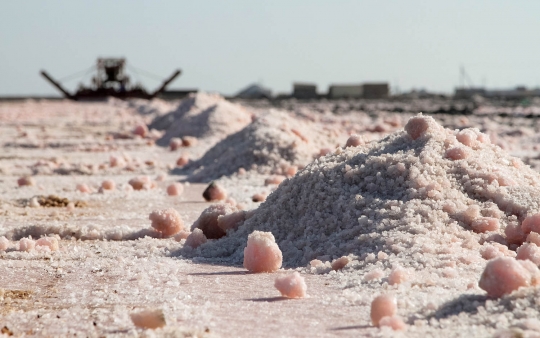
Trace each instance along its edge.
{"label": "pale grey-blue clear sky above the horizon", "polygon": [[63,78],[98,57],[226,95],[295,81],[451,93],[461,66],[475,86],[540,87],[539,13],[536,0],[2,1],[0,96],[57,94],[41,69]]}

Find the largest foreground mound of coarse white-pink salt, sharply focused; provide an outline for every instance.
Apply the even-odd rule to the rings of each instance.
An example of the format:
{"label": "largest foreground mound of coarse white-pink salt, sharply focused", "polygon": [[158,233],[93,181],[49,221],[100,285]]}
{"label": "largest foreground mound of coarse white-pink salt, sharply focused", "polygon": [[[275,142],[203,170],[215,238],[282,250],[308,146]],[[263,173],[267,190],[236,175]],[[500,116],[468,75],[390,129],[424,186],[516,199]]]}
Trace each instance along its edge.
{"label": "largest foreground mound of coarse white-pink salt, sharply focused", "polygon": [[[382,251],[392,264],[457,263],[478,273],[480,244],[507,244],[504,229],[538,212],[540,175],[478,130],[451,131],[423,116],[405,130],[314,161],[197,254],[239,264],[247,236],[260,230],[272,232],[289,267],[320,256],[369,261]],[[493,232],[471,228],[497,222]]]}

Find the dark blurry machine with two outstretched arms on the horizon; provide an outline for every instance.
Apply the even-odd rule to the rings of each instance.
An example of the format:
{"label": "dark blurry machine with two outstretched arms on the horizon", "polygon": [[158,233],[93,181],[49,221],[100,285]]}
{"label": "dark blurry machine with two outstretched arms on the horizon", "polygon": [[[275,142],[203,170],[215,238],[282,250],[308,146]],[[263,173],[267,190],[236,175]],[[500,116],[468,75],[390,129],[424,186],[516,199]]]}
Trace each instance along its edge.
{"label": "dark blurry machine with two outstretched arms on the horizon", "polygon": [[54,87],[71,100],[103,99],[108,96],[120,99],[141,98],[152,99],[161,94],[165,88],[178,76],[181,71],[176,70],[169,78],[163,81],[161,86],[152,93],[148,93],[140,84],[131,85],[129,76],[125,73],[126,59],[123,58],[99,58],[94,67],[96,74],[92,77],[92,84],[88,87],[83,84],[75,94],[65,90],[59,81],[54,80],[47,72],[41,71],[41,75]]}

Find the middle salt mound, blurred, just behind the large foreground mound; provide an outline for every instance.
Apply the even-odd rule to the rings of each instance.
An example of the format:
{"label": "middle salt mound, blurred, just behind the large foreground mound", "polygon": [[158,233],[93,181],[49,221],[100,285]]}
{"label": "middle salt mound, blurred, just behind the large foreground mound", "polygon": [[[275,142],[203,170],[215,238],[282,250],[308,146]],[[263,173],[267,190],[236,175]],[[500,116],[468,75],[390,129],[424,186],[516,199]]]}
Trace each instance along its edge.
{"label": "middle salt mound, blurred, just behind the large foreground mound", "polygon": [[328,146],[331,136],[324,133],[311,121],[270,110],[216,144],[182,172],[194,170],[190,177],[193,181],[229,176],[240,168],[260,174],[281,174],[291,165],[308,164],[322,147]]}

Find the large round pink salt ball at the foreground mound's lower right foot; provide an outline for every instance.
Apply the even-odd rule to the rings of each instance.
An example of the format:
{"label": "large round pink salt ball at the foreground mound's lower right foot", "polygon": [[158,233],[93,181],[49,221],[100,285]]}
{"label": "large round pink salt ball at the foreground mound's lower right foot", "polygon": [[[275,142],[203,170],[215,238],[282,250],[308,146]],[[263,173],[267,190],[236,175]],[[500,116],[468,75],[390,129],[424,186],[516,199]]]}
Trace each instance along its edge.
{"label": "large round pink salt ball at the foreground mound's lower right foot", "polygon": [[478,286],[490,297],[501,297],[531,284],[531,273],[517,260],[498,257],[489,261]]}

